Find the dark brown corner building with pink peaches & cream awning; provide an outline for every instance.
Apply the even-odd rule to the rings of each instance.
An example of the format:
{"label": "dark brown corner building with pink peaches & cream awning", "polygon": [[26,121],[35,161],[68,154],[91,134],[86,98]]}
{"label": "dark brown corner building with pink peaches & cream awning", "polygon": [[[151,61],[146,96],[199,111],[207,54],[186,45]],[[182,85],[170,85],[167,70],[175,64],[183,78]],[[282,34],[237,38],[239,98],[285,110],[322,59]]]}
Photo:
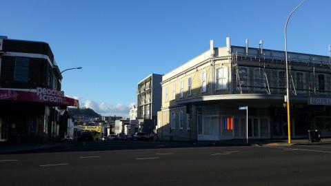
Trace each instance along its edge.
{"label": "dark brown corner building with pink peaches & cream awning", "polygon": [[61,72],[48,43],[0,37],[0,141],[63,138],[67,106]]}

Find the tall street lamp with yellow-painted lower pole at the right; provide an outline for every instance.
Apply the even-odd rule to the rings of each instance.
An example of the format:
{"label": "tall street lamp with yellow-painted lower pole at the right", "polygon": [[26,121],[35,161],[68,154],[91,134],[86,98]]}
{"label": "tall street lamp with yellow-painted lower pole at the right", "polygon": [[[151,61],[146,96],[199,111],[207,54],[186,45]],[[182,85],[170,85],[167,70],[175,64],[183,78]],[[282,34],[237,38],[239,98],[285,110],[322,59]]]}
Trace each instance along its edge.
{"label": "tall street lamp with yellow-painted lower pole at the right", "polygon": [[291,143],[291,131],[290,131],[290,94],[289,94],[289,87],[288,87],[288,35],[287,35],[287,30],[288,30],[288,21],[290,20],[290,17],[292,14],[302,5],[302,3],[305,2],[303,0],[297,8],[294,8],[290,15],[288,16],[288,19],[286,20],[285,23],[285,61],[286,61],[286,103],[287,103],[287,108],[288,108],[288,143]]}

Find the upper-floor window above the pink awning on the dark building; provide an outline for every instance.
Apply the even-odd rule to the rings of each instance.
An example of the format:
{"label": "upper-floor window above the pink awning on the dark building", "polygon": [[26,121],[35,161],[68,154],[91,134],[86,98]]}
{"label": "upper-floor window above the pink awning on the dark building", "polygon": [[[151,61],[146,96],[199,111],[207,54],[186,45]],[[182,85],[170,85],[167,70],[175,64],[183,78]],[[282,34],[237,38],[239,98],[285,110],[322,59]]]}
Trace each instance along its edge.
{"label": "upper-floor window above the pink awning on the dark building", "polygon": [[14,81],[29,80],[29,63],[30,59],[27,57],[15,58]]}

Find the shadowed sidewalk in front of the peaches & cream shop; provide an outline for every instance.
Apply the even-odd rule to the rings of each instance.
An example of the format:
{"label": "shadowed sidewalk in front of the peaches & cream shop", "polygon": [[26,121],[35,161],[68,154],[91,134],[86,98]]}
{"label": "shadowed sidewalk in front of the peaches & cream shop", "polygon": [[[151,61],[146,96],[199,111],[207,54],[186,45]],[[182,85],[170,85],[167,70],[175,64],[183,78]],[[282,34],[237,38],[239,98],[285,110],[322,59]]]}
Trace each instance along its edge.
{"label": "shadowed sidewalk in front of the peaches & cream shop", "polygon": [[37,144],[0,144],[0,154],[21,154],[47,151],[52,149],[66,149],[72,143],[37,143]]}

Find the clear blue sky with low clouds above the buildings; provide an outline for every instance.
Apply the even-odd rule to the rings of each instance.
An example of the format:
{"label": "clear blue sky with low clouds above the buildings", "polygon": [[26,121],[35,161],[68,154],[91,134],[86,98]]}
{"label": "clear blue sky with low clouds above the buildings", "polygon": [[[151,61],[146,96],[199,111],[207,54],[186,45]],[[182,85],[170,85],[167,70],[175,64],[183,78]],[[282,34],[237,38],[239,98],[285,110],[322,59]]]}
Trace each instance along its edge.
{"label": "clear blue sky with low clouds above the buildings", "polygon": [[[103,115],[128,115],[137,83],[208,50],[232,45],[284,50],[284,25],[299,0],[0,0],[0,35],[46,41],[62,89]],[[288,50],[328,55],[331,1],[307,0],[288,25]]]}

